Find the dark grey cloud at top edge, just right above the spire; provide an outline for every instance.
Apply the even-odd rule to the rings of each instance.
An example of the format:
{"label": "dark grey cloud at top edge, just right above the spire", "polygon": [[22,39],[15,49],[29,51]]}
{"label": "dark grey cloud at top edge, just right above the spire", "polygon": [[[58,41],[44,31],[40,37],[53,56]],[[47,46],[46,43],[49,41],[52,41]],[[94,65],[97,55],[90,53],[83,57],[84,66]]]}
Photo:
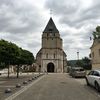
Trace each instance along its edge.
{"label": "dark grey cloud at top edge, just right above the spire", "polygon": [[51,8],[53,10],[54,13],[56,13],[57,15],[59,14],[71,14],[73,12],[76,12],[79,8],[80,5],[80,1],[77,0],[77,2],[75,0],[59,0],[59,2],[57,0],[47,0],[45,7],[46,8]]}

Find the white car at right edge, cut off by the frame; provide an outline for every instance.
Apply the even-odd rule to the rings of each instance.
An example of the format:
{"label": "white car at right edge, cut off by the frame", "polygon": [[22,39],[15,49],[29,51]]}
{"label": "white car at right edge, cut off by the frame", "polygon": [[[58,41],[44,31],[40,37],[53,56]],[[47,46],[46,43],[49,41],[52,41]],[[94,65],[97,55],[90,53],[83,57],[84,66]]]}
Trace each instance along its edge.
{"label": "white car at right edge, cut off by the frame", "polygon": [[92,70],[86,75],[87,85],[92,85],[97,91],[100,91],[100,70]]}

